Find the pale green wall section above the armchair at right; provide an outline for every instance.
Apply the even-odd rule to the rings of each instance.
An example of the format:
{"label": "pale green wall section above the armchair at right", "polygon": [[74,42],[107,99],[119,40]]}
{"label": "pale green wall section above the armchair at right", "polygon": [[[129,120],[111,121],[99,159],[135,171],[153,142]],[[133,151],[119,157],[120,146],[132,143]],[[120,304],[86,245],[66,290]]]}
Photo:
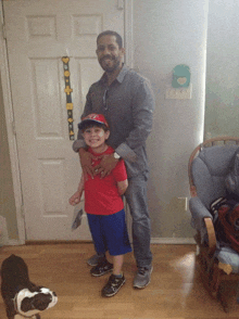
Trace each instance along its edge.
{"label": "pale green wall section above the armchair at right", "polygon": [[238,15],[238,1],[209,1],[205,139],[239,136]]}

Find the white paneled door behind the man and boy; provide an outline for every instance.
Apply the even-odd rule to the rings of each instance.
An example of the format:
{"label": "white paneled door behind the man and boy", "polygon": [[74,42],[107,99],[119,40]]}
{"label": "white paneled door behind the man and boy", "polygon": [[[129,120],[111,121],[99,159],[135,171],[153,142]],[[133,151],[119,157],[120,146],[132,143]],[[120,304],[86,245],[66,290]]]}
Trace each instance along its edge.
{"label": "white paneled door behind the man and boy", "polygon": [[9,0],[3,9],[26,239],[90,239],[86,216],[71,230],[67,201],[80,166],[68,136],[62,56],[70,56],[76,137],[88,88],[102,74],[97,35],[124,35],[124,11],[117,0]]}

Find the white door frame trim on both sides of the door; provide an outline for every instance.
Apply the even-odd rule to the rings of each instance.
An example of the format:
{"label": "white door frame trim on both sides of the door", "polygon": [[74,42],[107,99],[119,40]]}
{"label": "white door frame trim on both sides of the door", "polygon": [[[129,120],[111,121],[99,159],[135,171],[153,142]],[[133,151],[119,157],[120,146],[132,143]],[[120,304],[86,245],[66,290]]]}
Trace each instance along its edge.
{"label": "white door frame trim on both sides of the door", "polygon": [[[13,191],[16,207],[16,221],[18,230],[18,240],[9,240],[10,245],[23,245],[26,241],[24,203],[21,186],[21,171],[17,153],[17,140],[14,131],[14,112],[12,104],[11,79],[8,63],[8,48],[4,38],[4,17],[3,17],[3,1],[0,0],[0,58],[3,62],[0,65],[0,75],[2,80],[3,107],[5,112],[5,125],[8,132],[8,142],[10,151],[10,162],[12,168]],[[125,41],[125,63],[129,67],[134,67],[134,38],[133,38],[133,1],[124,0],[124,41]],[[121,10],[121,9],[118,9]]]}

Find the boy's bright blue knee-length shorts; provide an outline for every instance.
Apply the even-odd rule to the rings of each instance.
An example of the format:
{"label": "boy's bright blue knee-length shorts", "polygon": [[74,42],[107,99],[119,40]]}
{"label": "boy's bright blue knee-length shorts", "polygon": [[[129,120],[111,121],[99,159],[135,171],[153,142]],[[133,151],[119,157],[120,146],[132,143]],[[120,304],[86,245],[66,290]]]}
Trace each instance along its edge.
{"label": "boy's bright blue knee-length shorts", "polygon": [[124,209],[106,216],[87,214],[87,217],[98,254],[109,251],[111,256],[118,256],[131,252]]}

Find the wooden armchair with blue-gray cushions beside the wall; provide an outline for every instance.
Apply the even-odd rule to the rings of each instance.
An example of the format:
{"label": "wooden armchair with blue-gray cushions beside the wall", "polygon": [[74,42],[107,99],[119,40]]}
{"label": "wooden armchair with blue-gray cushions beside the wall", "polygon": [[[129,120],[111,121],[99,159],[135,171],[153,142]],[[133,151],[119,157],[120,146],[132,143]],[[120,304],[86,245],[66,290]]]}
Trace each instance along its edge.
{"label": "wooden armchair with blue-gray cushions beside the wall", "polygon": [[229,311],[239,282],[239,254],[216,241],[210,213],[212,202],[226,195],[225,178],[239,150],[239,138],[219,137],[206,140],[192,152],[189,164],[189,208],[197,230],[197,265],[206,290]]}

